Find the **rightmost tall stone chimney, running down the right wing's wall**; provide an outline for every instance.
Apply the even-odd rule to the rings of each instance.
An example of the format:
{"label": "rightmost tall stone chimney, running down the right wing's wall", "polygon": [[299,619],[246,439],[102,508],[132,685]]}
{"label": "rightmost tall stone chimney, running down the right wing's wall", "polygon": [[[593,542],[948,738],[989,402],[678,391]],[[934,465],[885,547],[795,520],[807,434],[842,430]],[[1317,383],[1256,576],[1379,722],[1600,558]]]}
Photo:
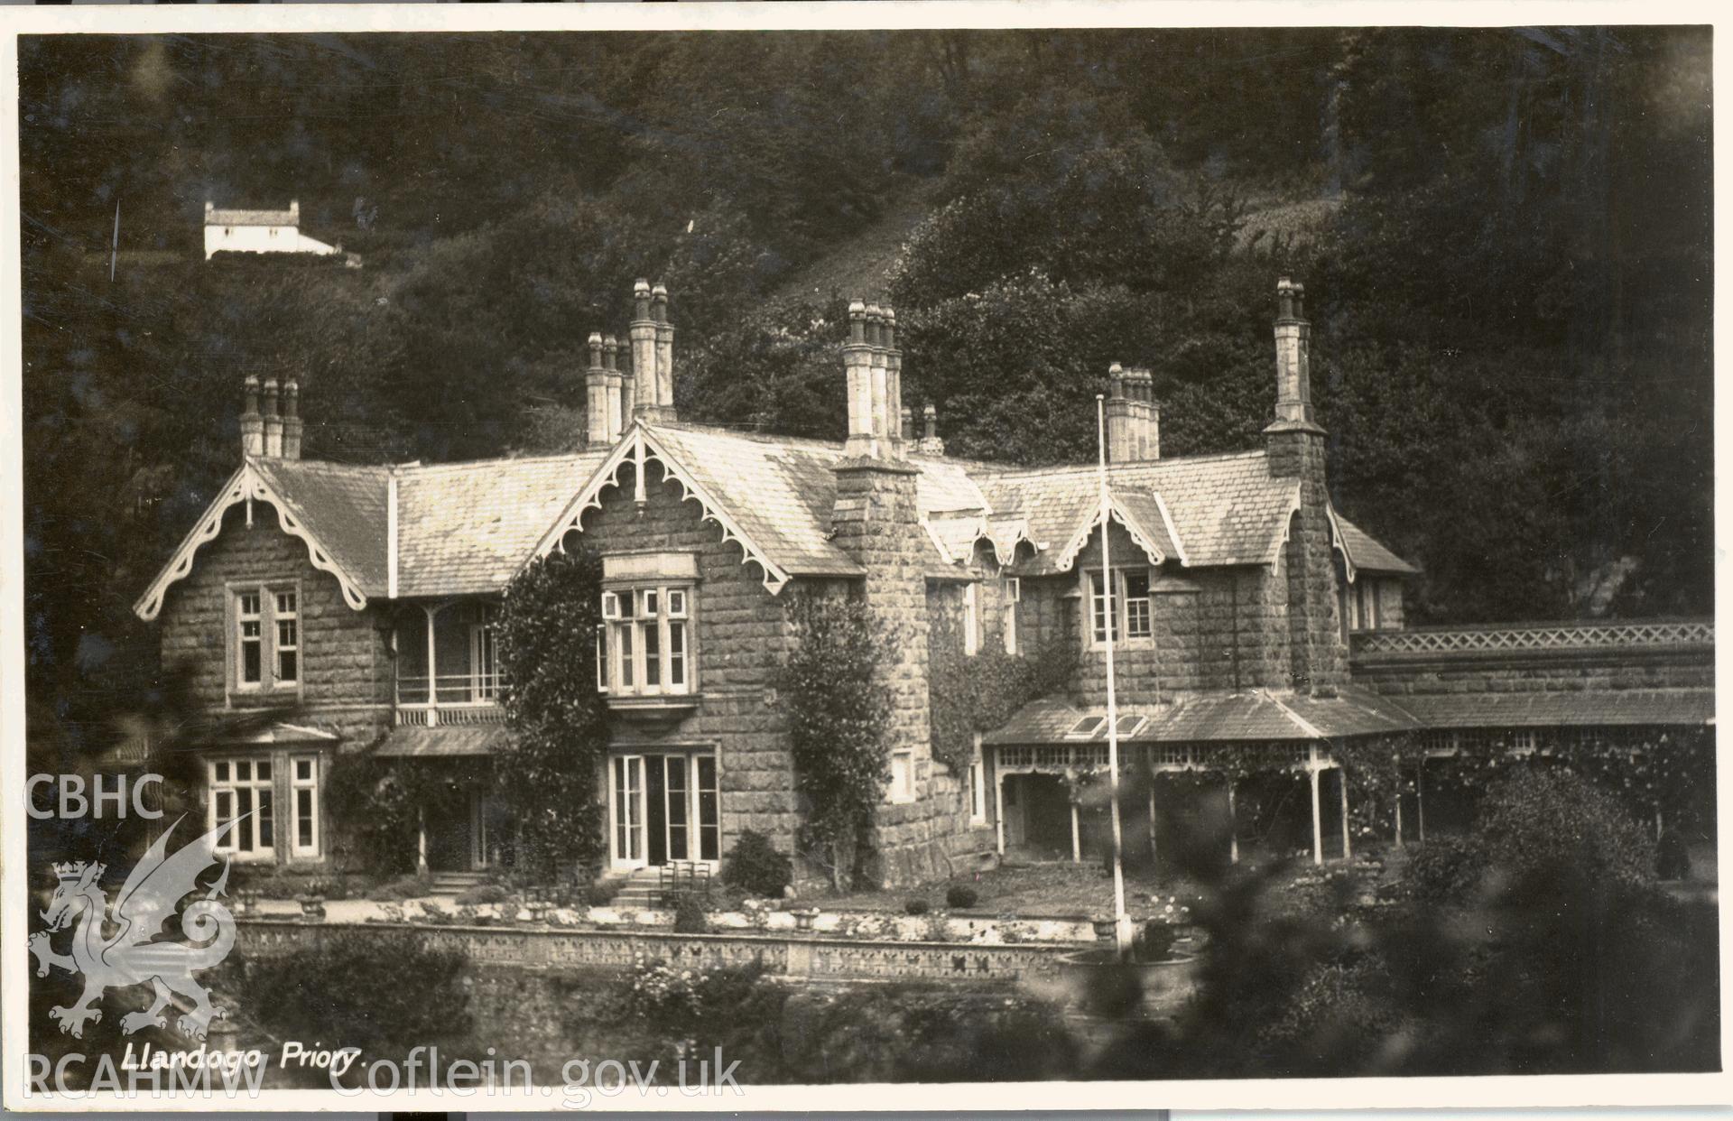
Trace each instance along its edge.
{"label": "rightmost tall stone chimney, running down the right wing's wall", "polygon": [[1329,539],[1326,433],[1312,411],[1310,340],[1305,288],[1282,277],[1275,284],[1275,421],[1263,430],[1263,440],[1270,475],[1300,482],[1300,509],[1289,520],[1277,575],[1286,575],[1289,676],[1296,690],[1348,679]]}

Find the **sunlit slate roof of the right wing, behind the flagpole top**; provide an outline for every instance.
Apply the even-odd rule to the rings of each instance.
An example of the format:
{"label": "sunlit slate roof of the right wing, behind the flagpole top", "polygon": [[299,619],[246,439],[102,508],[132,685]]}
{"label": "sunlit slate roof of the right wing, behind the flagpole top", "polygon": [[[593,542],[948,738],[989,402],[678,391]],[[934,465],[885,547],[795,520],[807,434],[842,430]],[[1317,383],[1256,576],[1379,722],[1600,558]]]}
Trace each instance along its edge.
{"label": "sunlit slate roof of the right wing, behind the flagpole top", "polygon": [[[1029,534],[1048,544],[1022,568],[1026,575],[1062,572],[1071,558],[1061,551],[1095,518],[1092,466],[1000,471],[981,489],[995,511],[1022,515]],[[1173,551],[1163,551],[1184,549],[1189,565],[1269,563],[1300,497],[1298,480],[1270,476],[1262,450],[1109,464],[1107,490],[1139,522],[1152,522],[1151,534],[1165,535],[1159,494],[1178,535]]]}

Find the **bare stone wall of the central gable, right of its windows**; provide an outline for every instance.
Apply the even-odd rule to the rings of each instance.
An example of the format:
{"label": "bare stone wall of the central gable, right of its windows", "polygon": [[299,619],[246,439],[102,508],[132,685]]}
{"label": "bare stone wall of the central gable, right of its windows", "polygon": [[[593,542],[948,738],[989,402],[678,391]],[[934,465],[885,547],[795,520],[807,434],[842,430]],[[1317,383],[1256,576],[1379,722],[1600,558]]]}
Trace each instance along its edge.
{"label": "bare stone wall of the central gable, right of its windows", "polygon": [[691,603],[693,665],[700,695],[697,710],[671,724],[634,724],[615,719],[617,742],[633,750],[669,750],[716,745],[721,788],[721,851],[726,854],[743,830],[757,830],[783,852],[794,852],[799,823],[794,759],[782,710],[769,690],[790,643],[785,596],[771,596],[756,563],[742,563],[737,542],[705,522],[685,489],[662,478],[660,464],[645,466],[646,502],[633,497],[631,464],[620,471],[624,487],[601,492],[601,509],[584,516],[582,544],[608,553],[691,553],[698,558],[698,587]]}

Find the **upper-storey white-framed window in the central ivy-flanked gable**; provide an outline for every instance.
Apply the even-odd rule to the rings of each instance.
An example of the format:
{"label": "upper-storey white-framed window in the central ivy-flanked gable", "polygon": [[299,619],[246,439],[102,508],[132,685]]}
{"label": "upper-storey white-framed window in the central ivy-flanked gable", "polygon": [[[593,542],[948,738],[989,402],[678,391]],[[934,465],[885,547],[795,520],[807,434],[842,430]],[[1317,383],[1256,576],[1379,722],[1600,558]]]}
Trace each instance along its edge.
{"label": "upper-storey white-framed window in the central ivy-flanked gable", "polygon": [[693,690],[691,587],[608,589],[601,619],[596,688],[627,697]]}

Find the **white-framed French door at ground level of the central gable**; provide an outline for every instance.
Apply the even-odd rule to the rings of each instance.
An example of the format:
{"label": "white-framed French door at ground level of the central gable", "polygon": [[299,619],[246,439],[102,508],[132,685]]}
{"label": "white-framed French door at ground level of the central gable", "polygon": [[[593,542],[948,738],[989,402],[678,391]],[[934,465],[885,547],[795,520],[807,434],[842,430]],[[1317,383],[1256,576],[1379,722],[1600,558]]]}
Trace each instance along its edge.
{"label": "white-framed French door at ground level of the central gable", "polygon": [[721,859],[716,755],[615,755],[608,769],[613,868]]}

